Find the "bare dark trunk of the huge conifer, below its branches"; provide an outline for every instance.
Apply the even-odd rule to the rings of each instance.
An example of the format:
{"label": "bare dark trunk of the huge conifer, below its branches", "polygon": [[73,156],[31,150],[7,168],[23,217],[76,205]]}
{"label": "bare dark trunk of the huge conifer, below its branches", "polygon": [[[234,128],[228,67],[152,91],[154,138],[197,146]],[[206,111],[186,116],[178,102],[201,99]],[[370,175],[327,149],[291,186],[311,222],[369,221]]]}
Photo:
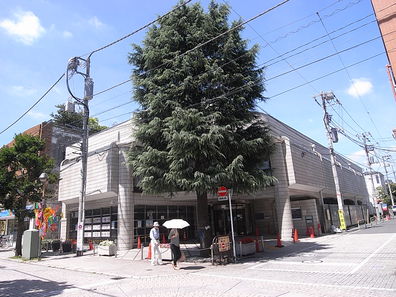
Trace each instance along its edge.
{"label": "bare dark trunk of the huge conifer, below its branches", "polygon": [[205,227],[210,227],[209,225],[209,211],[208,211],[208,193],[197,192],[197,227],[198,227],[198,237],[201,244],[200,257],[208,258],[210,257],[210,247],[212,241],[212,230]]}

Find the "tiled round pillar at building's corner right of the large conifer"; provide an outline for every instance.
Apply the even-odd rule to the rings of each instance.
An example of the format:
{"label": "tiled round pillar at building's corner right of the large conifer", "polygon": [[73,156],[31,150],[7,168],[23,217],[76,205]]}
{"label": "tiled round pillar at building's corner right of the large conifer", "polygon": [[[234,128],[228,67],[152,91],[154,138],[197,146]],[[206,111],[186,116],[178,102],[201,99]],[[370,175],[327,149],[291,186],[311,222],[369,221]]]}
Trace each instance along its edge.
{"label": "tiled round pillar at building's corner right of the large conifer", "polygon": [[288,189],[286,164],[283,153],[283,143],[274,144],[276,150],[271,156],[271,167],[274,168],[273,175],[278,179],[275,183],[275,206],[278,218],[278,231],[282,240],[291,240],[291,229],[293,229],[293,218]]}

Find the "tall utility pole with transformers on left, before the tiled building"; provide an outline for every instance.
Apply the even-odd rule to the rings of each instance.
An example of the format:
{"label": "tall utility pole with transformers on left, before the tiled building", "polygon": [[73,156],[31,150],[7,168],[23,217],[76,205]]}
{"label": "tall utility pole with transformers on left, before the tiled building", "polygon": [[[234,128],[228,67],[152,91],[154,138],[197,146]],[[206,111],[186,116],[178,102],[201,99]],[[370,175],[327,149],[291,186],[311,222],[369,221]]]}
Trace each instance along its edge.
{"label": "tall utility pole with transformers on left, before the tiled building", "polygon": [[[84,221],[85,221],[85,190],[86,190],[86,179],[87,179],[87,160],[88,160],[88,135],[89,135],[89,108],[88,101],[93,96],[93,81],[89,76],[90,57],[82,59],[81,57],[74,57],[69,60],[68,71],[71,70],[71,75],[75,73],[81,74],[85,77],[84,80],[84,98],[76,98],[70,91],[69,83],[67,80],[67,88],[70,95],[76,99],[76,104],[80,104],[84,107],[84,120],[82,127],[82,142],[81,142],[81,171],[80,171],[80,196],[78,198],[78,223],[77,223],[77,250],[76,255],[82,256],[84,250]],[[86,73],[78,72],[77,67],[82,67],[84,61],[84,67],[86,67]],[[67,73],[67,78],[69,73]],[[67,107],[66,107],[67,108]]]}

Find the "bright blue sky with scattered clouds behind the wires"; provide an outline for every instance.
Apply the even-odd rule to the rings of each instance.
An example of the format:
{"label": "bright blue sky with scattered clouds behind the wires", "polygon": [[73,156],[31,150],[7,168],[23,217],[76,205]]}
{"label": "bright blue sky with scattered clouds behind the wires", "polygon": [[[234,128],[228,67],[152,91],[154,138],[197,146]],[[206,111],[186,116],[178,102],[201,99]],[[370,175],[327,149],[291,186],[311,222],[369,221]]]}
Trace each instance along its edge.
{"label": "bright blue sky with scattered clouds behind the wires", "polygon": [[[201,1],[204,7],[207,7],[208,2],[208,0]],[[236,13],[244,17],[245,20],[279,2],[280,0],[228,1]],[[29,109],[65,72],[70,57],[84,55],[129,34],[155,19],[157,14],[166,13],[174,4],[176,4],[176,1],[169,0],[152,0],[150,2],[49,2],[42,0],[3,2],[0,11],[0,64],[2,65],[0,91],[3,103],[3,108],[0,110],[0,131]],[[349,7],[342,10],[348,4]],[[320,16],[323,18],[323,23],[328,32],[338,30],[366,17],[362,21],[330,34],[334,38],[339,34],[364,25],[360,29],[334,38],[333,42],[338,51],[343,51],[380,36],[375,16],[369,16],[373,13],[369,0],[360,0],[360,2],[359,0],[338,2],[337,0],[291,0],[249,23],[262,37],[259,37],[259,34],[251,27],[246,26],[243,33],[244,38],[249,38],[251,44],[259,43],[263,47],[258,63],[265,63],[278,57],[278,53],[283,55],[287,51],[326,35],[322,23],[318,21],[317,11],[320,11]],[[231,11],[230,19],[237,19],[238,15],[236,13]],[[333,15],[327,17],[331,13]],[[308,27],[299,29],[301,26],[308,24],[310,24]],[[297,29],[299,29],[298,32],[289,33]],[[287,37],[280,38],[286,34]],[[131,69],[126,62],[126,55],[130,50],[129,44],[140,43],[143,36],[144,32],[139,32],[122,42],[93,54],[91,58],[91,77],[95,83],[94,93],[129,78]],[[272,48],[266,46],[267,42],[270,42]],[[322,90],[333,90],[337,98],[343,103],[345,110],[359,126],[365,131],[371,132],[373,138],[379,142],[379,146],[394,150],[396,142],[392,138],[392,127],[396,126],[394,122],[396,104],[386,73],[385,65],[388,61],[385,54],[348,68],[350,77],[358,89],[360,98],[376,128],[345,70],[316,80],[310,85],[306,84],[293,91],[277,95],[304,84],[305,80],[315,80],[343,68],[338,55],[333,55],[335,49],[327,36],[301,48],[299,51],[314,45],[317,46],[298,55],[293,55],[298,51],[284,55],[286,58],[293,55],[286,59],[287,62],[279,58],[270,62],[280,60],[268,66],[266,70],[268,80],[266,96],[272,98],[267,103],[261,103],[260,106],[282,122],[326,145],[327,139],[322,110],[311,96]],[[381,38],[378,38],[357,48],[342,52],[340,56],[345,66],[349,66],[384,51],[383,42]],[[328,55],[333,56],[304,67],[304,65]],[[302,67],[298,69],[298,72],[303,78],[295,71],[284,74],[292,70],[291,67]],[[283,75],[273,78],[279,74]],[[70,82],[70,87],[77,96],[82,96],[82,79],[74,76],[74,81]],[[131,85],[127,83],[94,97],[90,102],[91,115],[130,101],[130,89]],[[14,133],[25,131],[42,121],[49,120],[48,115],[55,112],[54,105],[65,103],[68,97],[66,82],[62,80],[29,114],[0,135],[0,145],[10,142]],[[102,103],[103,101],[106,102]],[[98,116],[99,120],[102,120],[100,124],[111,126],[114,122],[122,122],[129,118],[128,114],[111,120],[106,119],[136,108],[138,108],[137,105],[130,103],[100,114]],[[341,115],[341,110],[338,107],[334,108]],[[342,113],[342,118],[333,110],[329,110],[331,111],[329,113],[333,114],[333,122],[343,126],[352,135],[357,134],[356,131],[362,133],[362,128],[353,122],[345,110]],[[383,139],[380,139],[381,137]],[[346,137],[340,137],[339,143],[335,144],[335,149],[348,158],[356,160],[356,162],[365,162],[362,149]],[[378,154],[385,154],[385,152],[378,151]],[[383,171],[383,168],[377,164],[373,168]]]}

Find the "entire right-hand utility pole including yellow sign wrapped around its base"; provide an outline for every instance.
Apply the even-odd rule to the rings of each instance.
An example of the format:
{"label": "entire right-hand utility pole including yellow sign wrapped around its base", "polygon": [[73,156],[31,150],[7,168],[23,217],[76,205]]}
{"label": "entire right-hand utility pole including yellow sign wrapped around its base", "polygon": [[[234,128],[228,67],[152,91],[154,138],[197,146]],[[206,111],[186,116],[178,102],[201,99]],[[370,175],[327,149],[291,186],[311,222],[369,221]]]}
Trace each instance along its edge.
{"label": "entire right-hand utility pole including yellow sign wrapped around its base", "polygon": [[[327,141],[329,142],[331,169],[333,170],[335,192],[337,194],[337,203],[338,203],[338,209],[339,209],[339,217],[340,217],[340,221],[341,221],[341,227],[346,230],[345,221],[344,221],[344,213],[343,213],[343,198],[341,196],[341,189],[340,189],[340,184],[338,181],[337,167],[336,167],[336,163],[335,163],[334,148],[333,148],[333,141],[338,142],[337,130],[330,129],[329,123],[331,121],[331,115],[329,115],[326,111],[326,103],[329,104],[329,106],[341,104],[341,103],[335,97],[333,91],[328,91],[326,93],[321,91],[320,94],[313,95],[312,97],[315,99],[315,101],[316,101],[316,97],[320,97],[322,99],[322,108],[323,108],[323,112],[324,112],[324,124],[326,127]],[[318,101],[316,101],[316,102],[318,102]]]}

